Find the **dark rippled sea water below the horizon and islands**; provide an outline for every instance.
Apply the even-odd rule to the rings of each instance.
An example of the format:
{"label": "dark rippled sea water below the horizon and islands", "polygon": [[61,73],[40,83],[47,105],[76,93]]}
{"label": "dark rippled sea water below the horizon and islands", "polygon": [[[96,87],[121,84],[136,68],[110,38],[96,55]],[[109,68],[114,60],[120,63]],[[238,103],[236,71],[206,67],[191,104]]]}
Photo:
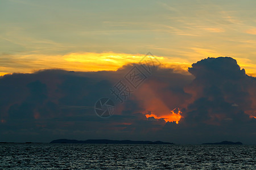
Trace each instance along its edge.
{"label": "dark rippled sea water below the horizon and islands", "polygon": [[0,169],[256,169],[256,146],[0,144]]}

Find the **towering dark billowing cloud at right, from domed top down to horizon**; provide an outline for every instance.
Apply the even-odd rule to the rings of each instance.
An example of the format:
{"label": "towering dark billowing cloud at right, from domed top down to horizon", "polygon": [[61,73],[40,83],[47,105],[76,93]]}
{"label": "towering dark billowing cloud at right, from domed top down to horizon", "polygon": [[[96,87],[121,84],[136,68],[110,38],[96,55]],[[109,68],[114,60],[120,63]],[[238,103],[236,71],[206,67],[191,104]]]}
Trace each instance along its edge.
{"label": "towering dark billowing cloud at right, from domed top down to horizon", "polygon": [[192,99],[180,123],[187,129],[180,128],[180,133],[193,134],[197,141],[229,138],[255,143],[256,119],[250,118],[256,111],[255,78],[230,57],[203,59],[188,71],[195,79],[184,88]]}

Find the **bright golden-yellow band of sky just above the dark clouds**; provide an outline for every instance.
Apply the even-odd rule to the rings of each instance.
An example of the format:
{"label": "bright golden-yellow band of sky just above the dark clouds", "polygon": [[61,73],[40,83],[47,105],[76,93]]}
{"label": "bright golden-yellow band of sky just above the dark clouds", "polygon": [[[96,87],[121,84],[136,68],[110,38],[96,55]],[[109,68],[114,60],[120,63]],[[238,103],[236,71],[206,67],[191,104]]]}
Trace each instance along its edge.
{"label": "bright golden-yellow band of sky just above the dark clouds", "polygon": [[[145,54],[125,53],[69,53],[66,55],[24,55],[5,56],[6,62],[0,65],[0,75],[8,73],[33,73],[41,69],[64,69],[72,71],[101,71],[117,70],[127,63],[138,63]],[[186,74],[192,63],[189,59],[178,57],[154,56],[161,63],[162,67],[170,67],[176,71]],[[217,57],[217,56],[216,56]],[[201,59],[207,58],[202,56]],[[250,59],[235,58],[241,69],[245,69],[248,75],[256,75],[256,65]],[[196,61],[195,61],[196,62]]]}

